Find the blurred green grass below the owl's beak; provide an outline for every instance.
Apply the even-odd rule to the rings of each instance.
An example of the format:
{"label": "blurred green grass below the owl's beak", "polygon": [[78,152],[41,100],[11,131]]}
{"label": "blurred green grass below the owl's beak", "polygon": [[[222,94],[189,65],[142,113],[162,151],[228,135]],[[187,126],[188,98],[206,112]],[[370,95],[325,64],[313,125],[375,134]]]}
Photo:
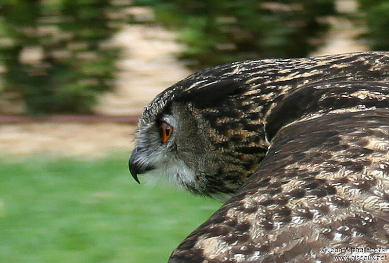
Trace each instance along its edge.
{"label": "blurred green grass below the owl's beak", "polygon": [[221,206],[139,186],[127,158],[0,159],[0,262],[166,262]]}

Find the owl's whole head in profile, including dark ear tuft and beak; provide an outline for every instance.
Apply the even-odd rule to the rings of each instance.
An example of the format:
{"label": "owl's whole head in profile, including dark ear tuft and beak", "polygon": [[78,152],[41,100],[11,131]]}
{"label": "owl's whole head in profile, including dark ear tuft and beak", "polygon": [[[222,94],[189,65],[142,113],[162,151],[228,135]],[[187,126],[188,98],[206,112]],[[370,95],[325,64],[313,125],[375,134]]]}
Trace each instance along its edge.
{"label": "owl's whole head in profile, including dark ear tuft and beak", "polygon": [[129,160],[135,180],[139,174],[165,177],[217,199],[238,190],[268,146],[261,107],[245,96],[250,86],[236,73],[239,67],[195,73],[144,108]]}

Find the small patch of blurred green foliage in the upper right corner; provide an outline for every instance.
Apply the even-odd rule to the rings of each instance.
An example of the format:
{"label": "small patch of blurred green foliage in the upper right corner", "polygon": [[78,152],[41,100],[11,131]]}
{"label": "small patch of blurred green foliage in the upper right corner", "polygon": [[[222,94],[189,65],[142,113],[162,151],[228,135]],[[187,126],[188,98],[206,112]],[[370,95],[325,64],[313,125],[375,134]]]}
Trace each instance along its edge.
{"label": "small patch of blurred green foliage in the upper right corner", "polygon": [[367,39],[372,50],[389,50],[389,0],[358,0],[359,10],[365,14]]}

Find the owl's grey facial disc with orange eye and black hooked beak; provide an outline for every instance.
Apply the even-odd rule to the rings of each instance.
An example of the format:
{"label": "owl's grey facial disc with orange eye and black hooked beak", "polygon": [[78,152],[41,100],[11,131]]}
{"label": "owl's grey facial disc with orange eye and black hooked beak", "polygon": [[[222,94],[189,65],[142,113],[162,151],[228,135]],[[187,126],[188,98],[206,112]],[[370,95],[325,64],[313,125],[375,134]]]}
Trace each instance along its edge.
{"label": "owl's grey facial disc with orange eye and black hooked beak", "polygon": [[129,160],[131,175],[138,182],[139,174],[147,180],[166,177],[180,188],[205,193],[207,177],[217,173],[219,161],[204,126],[182,103],[172,103],[155,121],[141,122]]}

